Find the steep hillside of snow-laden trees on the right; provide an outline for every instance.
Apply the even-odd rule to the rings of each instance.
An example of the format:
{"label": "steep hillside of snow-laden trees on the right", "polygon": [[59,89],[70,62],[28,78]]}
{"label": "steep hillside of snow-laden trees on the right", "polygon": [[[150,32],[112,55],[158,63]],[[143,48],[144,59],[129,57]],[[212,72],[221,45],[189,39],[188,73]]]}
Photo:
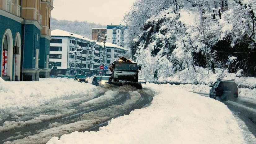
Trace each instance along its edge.
{"label": "steep hillside of snow-laden trees on the right", "polygon": [[255,0],[138,0],[124,21],[148,81],[228,77],[248,85],[256,76],[255,11]]}

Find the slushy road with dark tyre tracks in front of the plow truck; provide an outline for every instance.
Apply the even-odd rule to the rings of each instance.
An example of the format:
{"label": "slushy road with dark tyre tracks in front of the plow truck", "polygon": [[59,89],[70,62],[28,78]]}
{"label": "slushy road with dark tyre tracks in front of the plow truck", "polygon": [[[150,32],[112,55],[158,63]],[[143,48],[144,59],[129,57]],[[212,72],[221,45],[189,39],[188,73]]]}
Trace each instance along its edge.
{"label": "slushy road with dark tyre tracks in front of the plow truck", "polygon": [[[52,136],[60,137],[92,126],[95,128],[101,123],[107,124],[112,118],[149,104],[153,96],[132,87],[121,90],[120,87],[115,90],[112,87],[98,88],[91,95],[64,98],[40,107],[5,111],[0,142],[45,144]],[[17,111],[23,111],[23,115],[15,115]]]}

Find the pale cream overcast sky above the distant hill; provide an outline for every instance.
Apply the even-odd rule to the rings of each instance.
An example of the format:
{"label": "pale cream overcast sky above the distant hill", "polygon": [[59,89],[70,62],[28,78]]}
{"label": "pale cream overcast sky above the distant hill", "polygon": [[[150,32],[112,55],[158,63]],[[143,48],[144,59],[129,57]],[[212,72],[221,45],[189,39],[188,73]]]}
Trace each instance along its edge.
{"label": "pale cream overcast sky above the distant hill", "polygon": [[110,25],[122,22],[126,11],[137,0],[54,0],[52,18]]}

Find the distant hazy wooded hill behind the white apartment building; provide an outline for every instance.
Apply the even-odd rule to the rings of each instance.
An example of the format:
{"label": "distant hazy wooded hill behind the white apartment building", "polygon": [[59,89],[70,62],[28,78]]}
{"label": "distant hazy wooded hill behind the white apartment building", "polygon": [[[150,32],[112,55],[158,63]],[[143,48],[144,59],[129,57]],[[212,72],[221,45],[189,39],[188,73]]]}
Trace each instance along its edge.
{"label": "distant hazy wooded hill behind the white apartment building", "polygon": [[92,28],[107,28],[106,25],[88,23],[87,21],[79,22],[69,20],[56,20],[51,18],[51,30],[60,29],[71,33],[76,33],[92,39]]}

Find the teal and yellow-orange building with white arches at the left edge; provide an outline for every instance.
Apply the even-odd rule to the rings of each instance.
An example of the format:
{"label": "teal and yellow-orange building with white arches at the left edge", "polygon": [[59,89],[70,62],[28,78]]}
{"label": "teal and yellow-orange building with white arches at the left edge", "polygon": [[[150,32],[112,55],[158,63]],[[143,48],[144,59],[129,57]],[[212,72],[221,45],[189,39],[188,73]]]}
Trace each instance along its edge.
{"label": "teal and yellow-orange building with white arches at the left edge", "polygon": [[49,26],[53,0],[0,2],[3,3],[0,6],[0,77],[5,81],[38,81],[39,77],[50,77]]}

